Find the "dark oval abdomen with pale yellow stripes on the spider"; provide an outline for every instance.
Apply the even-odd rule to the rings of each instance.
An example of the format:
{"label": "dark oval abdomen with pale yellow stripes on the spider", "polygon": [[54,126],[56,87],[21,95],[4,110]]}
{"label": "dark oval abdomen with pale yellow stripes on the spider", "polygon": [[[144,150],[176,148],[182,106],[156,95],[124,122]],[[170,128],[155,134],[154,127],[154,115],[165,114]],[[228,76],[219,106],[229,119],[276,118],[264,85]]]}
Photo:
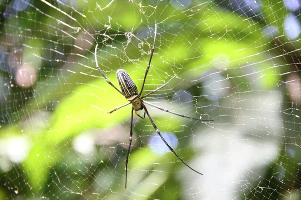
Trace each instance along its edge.
{"label": "dark oval abdomen with pale yellow stripes on the spider", "polygon": [[128,101],[131,101],[138,97],[138,89],[128,73],[123,69],[118,69],[117,80],[119,82],[120,89]]}

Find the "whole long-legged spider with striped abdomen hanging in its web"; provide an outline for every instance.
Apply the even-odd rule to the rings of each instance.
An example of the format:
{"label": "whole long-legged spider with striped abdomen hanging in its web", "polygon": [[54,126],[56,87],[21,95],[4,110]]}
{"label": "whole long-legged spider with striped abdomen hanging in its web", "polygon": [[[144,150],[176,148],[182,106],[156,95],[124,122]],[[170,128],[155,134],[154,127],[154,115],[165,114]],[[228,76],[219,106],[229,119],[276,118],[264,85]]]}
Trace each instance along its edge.
{"label": "whole long-legged spider with striped abdomen hanging in its web", "polygon": [[[115,87],[113,85],[113,83],[111,81],[109,81],[109,79],[105,76],[105,74],[103,73],[103,71],[100,69],[100,67],[98,66],[98,62],[97,62],[97,56],[96,56],[96,51],[97,51],[97,47],[98,47],[98,44],[96,44],[96,47],[95,47],[95,52],[94,52],[94,56],[95,56],[95,62],[96,62],[96,67],[97,69],[99,70],[99,72],[101,73],[101,75],[105,78],[105,80],[107,81],[107,83],[109,83],[112,87],[114,87],[119,93],[121,93],[129,102],[124,104],[124,105],[120,105],[118,107],[116,107],[115,109],[107,112],[107,113],[112,113],[114,111],[116,111],[117,109],[121,108],[121,107],[124,107],[126,105],[129,105],[130,103],[132,104],[132,108],[131,108],[131,114],[130,114],[130,130],[129,130],[129,145],[128,145],[128,148],[127,148],[127,154],[126,154],[126,159],[125,159],[125,189],[126,189],[126,180],[127,180],[127,163],[128,163],[128,156],[129,156],[129,151],[130,151],[130,145],[131,145],[131,142],[132,142],[132,135],[133,135],[133,110],[135,110],[135,114],[137,116],[139,116],[140,118],[145,118],[145,113],[147,114],[150,122],[153,124],[156,132],[159,134],[159,136],[162,138],[162,140],[164,141],[164,143],[169,147],[169,149],[186,165],[188,166],[191,170],[203,175],[202,173],[200,173],[199,171],[193,169],[192,167],[190,167],[183,159],[181,159],[181,157],[175,152],[175,150],[167,143],[167,141],[164,139],[164,137],[162,136],[162,134],[160,133],[159,129],[157,128],[156,124],[154,123],[152,117],[150,117],[149,113],[148,113],[148,110],[146,109],[145,105],[144,104],[148,104],[150,106],[153,106],[153,107],[156,107],[158,109],[161,109],[163,111],[166,111],[166,112],[170,112],[172,114],[176,114],[178,116],[182,116],[182,117],[186,117],[186,118],[190,118],[190,119],[194,119],[194,120],[200,120],[200,121],[213,121],[213,120],[204,120],[204,119],[200,119],[200,118],[193,118],[193,117],[190,117],[190,116],[186,116],[186,115],[183,115],[183,114],[179,114],[179,113],[176,113],[176,112],[173,112],[173,111],[170,111],[166,108],[163,108],[163,107],[160,107],[158,105],[155,105],[153,103],[150,103],[146,100],[144,100],[144,98],[146,96],[148,96],[149,94],[152,94],[156,91],[158,91],[159,89],[161,89],[162,87],[164,87],[166,84],[168,84],[174,77],[176,77],[176,75],[174,77],[172,77],[169,81],[167,81],[166,83],[164,83],[163,85],[161,85],[160,87],[158,87],[157,89],[154,89],[150,92],[148,92],[147,94],[141,96],[141,93],[143,91],[143,87],[144,87],[144,83],[145,83],[145,79],[146,79],[146,75],[147,75],[147,72],[149,70],[149,66],[150,66],[150,62],[152,61],[152,57],[153,57],[153,54],[154,54],[154,51],[155,51],[155,44],[156,44],[156,35],[157,35],[157,24],[155,24],[155,36],[154,36],[154,45],[153,45],[153,48],[152,48],[152,52],[150,53],[150,58],[149,58],[149,61],[148,61],[148,64],[147,64],[147,68],[145,70],[145,74],[144,74],[144,78],[143,78],[143,83],[142,83],[142,87],[141,87],[141,90],[140,92],[138,93],[138,89],[137,89],[137,86],[135,85],[135,83],[132,81],[132,79],[129,77],[128,73],[123,70],[123,69],[118,69],[117,72],[116,72],[116,75],[117,75],[117,80],[118,80],[118,83],[119,83],[119,86],[120,86],[120,89],[121,91]],[[143,117],[140,116],[137,111],[138,110],[142,110],[144,109],[144,115]]]}

